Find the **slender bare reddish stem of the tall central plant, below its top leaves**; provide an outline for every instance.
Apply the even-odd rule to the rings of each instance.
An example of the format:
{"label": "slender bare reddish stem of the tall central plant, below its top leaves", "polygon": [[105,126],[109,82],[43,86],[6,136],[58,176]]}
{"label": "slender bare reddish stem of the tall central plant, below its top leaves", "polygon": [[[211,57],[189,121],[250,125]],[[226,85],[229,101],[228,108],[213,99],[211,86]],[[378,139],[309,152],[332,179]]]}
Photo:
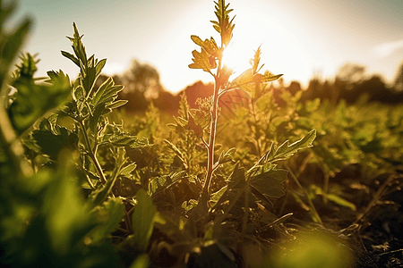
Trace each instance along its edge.
{"label": "slender bare reddish stem of the tall central plant, below its top leaves", "polygon": [[217,121],[218,121],[218,109],[219,109],[219,88],[220,83],[220,72],[221,72],[221,58],[219,58],[219,67],[217,68],[217,74],[214,75],[214,94],[212,98],[211,106],[211,125],[210,125],[210,139],[207,145],[207,174],[206,180],[204,181],[203,192],[201,199],[204,197],[208,200],[210,196],[210,182],[212,178],[212,173],[214,172],[214,144],[216,142],[216,131],[217,131]]}

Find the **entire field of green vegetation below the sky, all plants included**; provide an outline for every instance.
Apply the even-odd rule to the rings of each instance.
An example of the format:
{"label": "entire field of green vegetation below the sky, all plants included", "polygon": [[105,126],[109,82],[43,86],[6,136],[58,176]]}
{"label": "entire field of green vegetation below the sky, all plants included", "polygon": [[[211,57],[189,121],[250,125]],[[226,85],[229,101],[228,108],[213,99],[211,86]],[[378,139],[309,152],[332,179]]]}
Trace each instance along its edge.
{"label": "entire field of green vegetation below the sky, all plants included", "polygon": [[[211,95],[195,105],[182,95],[169,123],[152,104],[131,117],[75,23],[73,53],[62,54],[76,80],[35,78],[31,54],[13,71],[31,21],[6,32],[13,6],[0,7],[1,264],[401,265],[403,108],[341,97],[363,80],[340,76],[330,96],[319,80],[316,91],[285,88],[261,72],[260,47],[233,78],[222,55],[234,17],[219,0],[219,42],[191,37],[200,48],[189,67],[210,73]],[[163,94],[158,73],[135,64],[150,76],[133,88]]]}

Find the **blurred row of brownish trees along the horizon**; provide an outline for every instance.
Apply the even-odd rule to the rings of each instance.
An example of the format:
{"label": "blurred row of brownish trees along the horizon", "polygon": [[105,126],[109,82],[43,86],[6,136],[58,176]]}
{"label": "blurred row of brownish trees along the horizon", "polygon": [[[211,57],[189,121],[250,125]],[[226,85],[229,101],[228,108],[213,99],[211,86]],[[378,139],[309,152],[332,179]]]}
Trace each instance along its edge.
{"label": "blurred row of brownish trees along the horizon", "polygon": [[[356,63],[346,63],[339,68],[333,80],[323,80],[319,76],[313,76],[306,88],[302,88],[298,81],[292,81],[285,86],[283,80],[279,80],[274,88],[274,96],[279,96],[281,90],[288,90],[296,94],[302,90],[301,101],[320,98],[329,100],[337,105],[341,99],[347,104],[354,104],[360,98],[366,98],[370,102],[381,102],[390,105],[403,103],[403,63],[399,66],[395,80],[388,85],[381,75],[366,75],[365,66]],[[106,75],[100,75],[97,81],[101,85],[107,80]],[[148,63],[133,60],[128,70],[114,76],[117,84],[124,85],[124,90],[119,97],[129,101],[124,109],[129,113],[144,112],[152,102],[163,113],[176,113],[179,108],[179,100],[182,94],[187,96],[190,105],[194,105],[197,98],[210,96],[212,84],[204,84],[201,81],[184,88],[176,95],[167,91],[159,80],[159,71]],[[221,100],[220,105],[231,105],[234,102],[244,102],[247,96],[242,93],[232,93]],[[278,100],[281,102],[281,100]]]}

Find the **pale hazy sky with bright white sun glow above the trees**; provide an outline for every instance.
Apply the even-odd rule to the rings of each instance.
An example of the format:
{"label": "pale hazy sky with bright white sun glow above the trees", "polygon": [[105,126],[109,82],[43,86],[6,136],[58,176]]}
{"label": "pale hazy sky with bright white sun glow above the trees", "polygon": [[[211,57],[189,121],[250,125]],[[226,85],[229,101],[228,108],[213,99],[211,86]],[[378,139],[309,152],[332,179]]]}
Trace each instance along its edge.
{"label": "pale hazy sky with bright white sun glow above the trees", "polygon": [[[303,86],[313,75],[333,79],[344,63],[365,65],[368,75],[391,82],[403,63],[403,0],[226,3],[236,15],[226,56],[236,73],[250,67],[259,46],[263,71]],[[212,81],[210,74],[188,68],[192,51],[199,49],[191,35],[219,41],[210,22],[216,20],[212,0],[21,0],[11,24],[24,16],[34,20],[24,51],[39,53],[38,76],[59,69],[77,76],[78,68],[60,53],[73,52],[65,37],[73,36],[74,21],[87,54],[107,58],[107,75],[125,71],[136,59],[154,66],[173,93],[197,80]]]}

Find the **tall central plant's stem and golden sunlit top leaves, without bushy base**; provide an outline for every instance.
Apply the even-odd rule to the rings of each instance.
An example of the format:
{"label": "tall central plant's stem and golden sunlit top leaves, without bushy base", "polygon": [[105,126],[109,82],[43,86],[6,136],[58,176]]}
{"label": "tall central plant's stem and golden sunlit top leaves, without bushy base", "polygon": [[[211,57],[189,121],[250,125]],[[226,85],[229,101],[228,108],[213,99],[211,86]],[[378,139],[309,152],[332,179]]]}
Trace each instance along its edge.
{"label": "tall central plant's stem and golden sunlit top leaves, without bushy base", "polygon": [[[236,79],[229,81],[232,71],[222,63],[223,52],[232,38],[232,32],[235,27],[233,24],[234,18],[230,19],[229,13],[232,9],[228,9],[229,4],[225,1],[215,2],[216,16],[218,21],[211,21],[214,29],[216,29],[221,37],[221,44],[218,46],[214,38],[205,39],[204,41],[197,36],[192,36],[193,42],[201,46],[201,52],[193,51],[193,63],[189,65],[193,69],[201,69],[209,72],[214,78],[214,93],[211,99],[211,118],[208,142],[204,140],[203,133],[207,129],[206,126],[199,126],[195,131],[200,133],[203,144],[207,148],[207,171],[204,181],[201,200],[207,201],[210,196],[210,181],[213,172],[219,167],[219,161],[214,159],[214,145],[216,140],[217,121],[218,121],[218,104],[219,96],[222,96],[228,91],[243,89],[247,92],[252,92],[256,84],[262,84],[273,80],[278,80],[281,75],[273,75],[269,71],[264,74],[258,73],[259,61],[253,64],[253,68],[244,71]],[[258,52],[259,53],[259,52]],[[211,70],[217,69],[216,73]],[[260,69],[260,68],[259,68]],[[259,94],[259,93],[257,93]],[[197,130],[196,130],[197,129]],[[312,142],[312,140],[311,140]],[[304,145],[306,146],[306,145]],[[308,145],[308,147],[310,144]],[[302,147],[301,147],[302,148]],[[272,153],[271,153],[272,154]],[[289,155],[287,155],[289,156]]]}

